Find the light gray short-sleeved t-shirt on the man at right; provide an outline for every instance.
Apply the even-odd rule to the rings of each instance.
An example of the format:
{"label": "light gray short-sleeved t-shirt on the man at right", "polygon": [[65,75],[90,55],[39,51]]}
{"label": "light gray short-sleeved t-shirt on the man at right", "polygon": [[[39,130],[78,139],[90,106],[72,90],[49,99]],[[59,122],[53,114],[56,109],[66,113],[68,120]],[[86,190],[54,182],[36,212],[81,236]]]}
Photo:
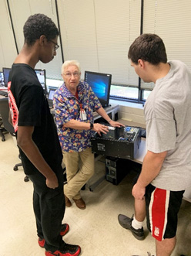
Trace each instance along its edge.
{"label": "light gray short-sleeved t-shirt on the man at right", "polygon": [[179,60],[169,64],[146,101],[146,145],[154,153],[167,151],[152,185],[179,191],[191,186],[191,72]]}

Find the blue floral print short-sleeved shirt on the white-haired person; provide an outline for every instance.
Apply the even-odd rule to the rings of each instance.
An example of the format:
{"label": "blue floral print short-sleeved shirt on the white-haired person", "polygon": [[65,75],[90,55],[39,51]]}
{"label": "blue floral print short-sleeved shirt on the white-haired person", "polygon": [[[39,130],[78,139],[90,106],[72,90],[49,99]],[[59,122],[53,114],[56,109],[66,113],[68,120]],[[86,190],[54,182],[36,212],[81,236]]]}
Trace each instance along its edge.
{"label": "blue floral print short-sleeved shirt on the white-haired person", "polygon": [[93,122],[93,111],[102,107],[89,84],[79,81],[77,91],[79,99],[72,95],[64,83],[55,91],[53,99],[59,142],[65,152],[82,152],[91,146],[92,130],[63,128],[63,125],[72,119],[83,121],[79,114],[79,104],[85,110],[87,120],[83,122],[86,123]]}

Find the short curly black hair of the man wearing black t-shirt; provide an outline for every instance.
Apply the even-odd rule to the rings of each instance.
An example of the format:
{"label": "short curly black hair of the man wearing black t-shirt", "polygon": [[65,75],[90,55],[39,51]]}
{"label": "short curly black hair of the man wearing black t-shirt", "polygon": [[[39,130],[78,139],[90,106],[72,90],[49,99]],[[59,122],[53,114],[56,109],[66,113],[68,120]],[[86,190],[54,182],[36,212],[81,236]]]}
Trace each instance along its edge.
{"label": "short curly black hair of the man wearing black t-shirt", "polygon": [[59,30],[52,19],[44,14],[38,13],[28,17],[23,27],[25,43],[32,46],[40,36],[45,35],[49,39],[59,36]]}

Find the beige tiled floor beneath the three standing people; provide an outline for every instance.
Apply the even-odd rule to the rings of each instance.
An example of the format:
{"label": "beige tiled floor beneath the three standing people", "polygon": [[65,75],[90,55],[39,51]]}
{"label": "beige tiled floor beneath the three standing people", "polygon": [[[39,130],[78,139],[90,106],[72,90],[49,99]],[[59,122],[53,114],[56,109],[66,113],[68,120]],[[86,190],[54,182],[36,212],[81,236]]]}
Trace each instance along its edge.
{"label": "beige tiled floor beneath the three standing people", "polygon": [[[24,182],[21,167],[17,172],[13,171],[19,159],[18,148],[10,135],[6,135],[5,142],[0,140],[0,159],[0,256],[44,255],[45,250],[37,243],[32,183]],[[94,180],[104,173],[104,164],[100,161],[96,162],[96,172]],[[82,191],[86,209],[79,210],[74,204],[66,208],[63,223],[68,223],[70,230],[64,240],[79,244],[82,256],[146,256],[147,251],[155,254],[155,242],[146,230],[146,223],[144,241],[137,241],[129,230],[118,224],[119,213],[129,217],[133,213],[131,189],[134,175],[129,173],[118,186],[104,180],[93,192],[86,186]],[[191,256],[191,203],[184,200],[179,212],[177,239],[173,256]]]}

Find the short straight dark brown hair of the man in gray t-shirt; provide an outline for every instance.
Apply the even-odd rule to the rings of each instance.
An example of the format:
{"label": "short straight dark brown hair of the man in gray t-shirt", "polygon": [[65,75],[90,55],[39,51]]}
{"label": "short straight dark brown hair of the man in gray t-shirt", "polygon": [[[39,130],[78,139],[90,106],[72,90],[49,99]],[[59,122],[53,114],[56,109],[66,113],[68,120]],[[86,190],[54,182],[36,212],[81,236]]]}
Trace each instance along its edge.
{"label": "short straight dark brown hair of the man in gray t-shirt", "polygon": [[136,64],[139,59],[153,65],[166,63],[167,56],[163,40],[156,34],[142,34],[130,46],[128,58]]}

